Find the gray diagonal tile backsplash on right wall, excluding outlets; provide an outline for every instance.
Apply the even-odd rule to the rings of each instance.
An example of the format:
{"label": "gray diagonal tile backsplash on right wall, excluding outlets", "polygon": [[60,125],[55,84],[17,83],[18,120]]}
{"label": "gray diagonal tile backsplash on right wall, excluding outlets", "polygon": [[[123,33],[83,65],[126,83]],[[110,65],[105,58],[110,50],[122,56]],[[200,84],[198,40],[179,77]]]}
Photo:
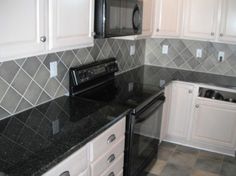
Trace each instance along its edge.
{"label": "gray diagonal tile backsplash on right wall, excluding outlets", "polygon": [[[169,53],[162,54],[162,46]],[[196,58],[196,49],[202,49],[202,58]],[[218,62],[218,52],[225,52],[225,60]],[[207,72],[236,77],[236,45],[180,40],[147,39],[145,64]]]}

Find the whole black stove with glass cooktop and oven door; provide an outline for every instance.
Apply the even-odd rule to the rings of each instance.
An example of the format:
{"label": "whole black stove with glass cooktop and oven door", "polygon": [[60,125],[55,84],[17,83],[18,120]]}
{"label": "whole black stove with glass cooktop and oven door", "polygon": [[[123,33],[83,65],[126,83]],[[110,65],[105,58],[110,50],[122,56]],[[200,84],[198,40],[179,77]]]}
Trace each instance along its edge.
{"label": "whole black stove with glass cooktop and oven door", "polygon": [[130,109],[126,123],[125,175],[143,175],[157,157],[165,96],[160,88],[115,76],[114,58],[70,69],[70,96]]}

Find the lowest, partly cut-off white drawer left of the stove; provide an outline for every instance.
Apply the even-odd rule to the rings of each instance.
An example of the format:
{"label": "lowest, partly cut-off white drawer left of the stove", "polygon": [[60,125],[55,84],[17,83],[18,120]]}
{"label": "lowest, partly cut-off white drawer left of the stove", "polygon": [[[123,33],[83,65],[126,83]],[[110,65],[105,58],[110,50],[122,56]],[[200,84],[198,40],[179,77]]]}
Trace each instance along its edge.
{"label": "lowest, partly cut-off white drawer left of the stove", "polygon": [[122,154],[117,158],[117,161],[113,163],[101,176],[118,176],[123,171],[124,167],[124,155]]}

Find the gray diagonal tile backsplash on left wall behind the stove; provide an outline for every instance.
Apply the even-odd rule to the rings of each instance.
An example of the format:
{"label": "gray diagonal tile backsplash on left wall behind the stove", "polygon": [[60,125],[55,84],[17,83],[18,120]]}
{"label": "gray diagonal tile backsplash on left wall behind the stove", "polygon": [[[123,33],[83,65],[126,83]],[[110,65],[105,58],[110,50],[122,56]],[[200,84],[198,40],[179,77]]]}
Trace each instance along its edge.
{"label": "gray diagonal tile backsplash on left wall behind the stove", "polygon": [[[136,54],[129,55],[130,45]],[[145,40],[95,40],[94,46],[0,63],[0,119],[68,93],[70,67],[116,57],[120,72],[144,64]],[[50,78],[49,64],[58,63]]]}

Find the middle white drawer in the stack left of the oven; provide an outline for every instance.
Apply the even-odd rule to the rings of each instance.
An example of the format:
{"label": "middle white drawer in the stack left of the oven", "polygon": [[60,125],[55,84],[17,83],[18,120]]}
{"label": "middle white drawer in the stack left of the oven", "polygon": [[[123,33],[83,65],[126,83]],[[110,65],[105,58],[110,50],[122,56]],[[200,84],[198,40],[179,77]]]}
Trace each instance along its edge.
{"label": "middle white drawer in the stack left of the oven", "polygon": [[92,176],[98,176],[103,173],[108,167],[111,167],[113,163],[117,161],[119,156],[124,152],[124,137],[115,145],[110,151],[105,153],[99,159],[91,164]]}

